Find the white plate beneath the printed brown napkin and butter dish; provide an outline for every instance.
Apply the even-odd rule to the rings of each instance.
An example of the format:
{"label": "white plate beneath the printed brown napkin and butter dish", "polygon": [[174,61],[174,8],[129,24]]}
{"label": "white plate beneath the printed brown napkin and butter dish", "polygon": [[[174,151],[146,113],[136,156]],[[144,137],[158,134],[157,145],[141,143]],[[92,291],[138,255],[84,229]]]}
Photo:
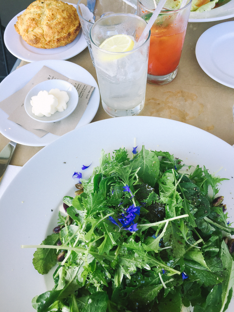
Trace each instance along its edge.
{"label": "white plate beneath the printed brown napkin and butter dish", "polygon": [[[0,83],[0,101],[6,99],[8,96],[25,86],[43,66],[47,66],[68,78],[78,80],[95,87],[90,97],[89,104],[87,105],[87,108],[76,128],[90,123],[96,115],[99,107],[100,93],[98,85],[96,80],[88,71],[86,71],[83,67],[68,61],[44,60],[33,62],[18,68]],[[0,133],[11,141],[28,146],[45,146],[59,138],[58,135],[51,133],[47,133],[43,137],[39,138],[37,135],[24,129],[19,124],[8,120],[8,117],[7,113],[0,109]]]}

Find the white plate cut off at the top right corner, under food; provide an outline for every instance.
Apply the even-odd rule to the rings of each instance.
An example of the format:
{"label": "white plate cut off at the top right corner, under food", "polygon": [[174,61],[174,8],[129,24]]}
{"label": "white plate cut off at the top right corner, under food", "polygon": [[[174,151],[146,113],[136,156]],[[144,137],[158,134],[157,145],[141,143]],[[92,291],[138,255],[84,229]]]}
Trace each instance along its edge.
{"label": "white plate cut off at the top right corner, under food", "polygon": [[190,12],[189,22],[214,22],[234,17],[234,0],[205,12]]}

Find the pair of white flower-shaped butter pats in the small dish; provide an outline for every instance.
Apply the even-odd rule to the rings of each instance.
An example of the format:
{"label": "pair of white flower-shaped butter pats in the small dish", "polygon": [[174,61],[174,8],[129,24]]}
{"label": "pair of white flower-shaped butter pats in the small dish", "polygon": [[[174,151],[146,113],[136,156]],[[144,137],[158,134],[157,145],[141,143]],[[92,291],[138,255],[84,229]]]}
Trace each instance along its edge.
{"label": "pair of white flower-shaped butter pats in the small dish", "polygon": [[51,89],[49,92],[39,91],[38,95],[32,96],[30,103],[34,115],[50,117],[56,111],[63,112],[66,110],[68,101],[69,96],[66,91]]}

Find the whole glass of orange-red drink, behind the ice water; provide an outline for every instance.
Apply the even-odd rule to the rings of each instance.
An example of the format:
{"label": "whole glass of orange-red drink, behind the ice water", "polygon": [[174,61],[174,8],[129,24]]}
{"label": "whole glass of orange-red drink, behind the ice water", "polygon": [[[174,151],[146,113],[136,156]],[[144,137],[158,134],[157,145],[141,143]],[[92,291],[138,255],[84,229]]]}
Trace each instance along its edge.
{"label": "whole glass of orange-red drink, behind the ice water", "polygon": [[[159,0],[138,0],[137,15],[146,22]],[[180,9],[182,1],[168,0],[151,27],[147,82],[164,85],[178,71],[192,0]]]}

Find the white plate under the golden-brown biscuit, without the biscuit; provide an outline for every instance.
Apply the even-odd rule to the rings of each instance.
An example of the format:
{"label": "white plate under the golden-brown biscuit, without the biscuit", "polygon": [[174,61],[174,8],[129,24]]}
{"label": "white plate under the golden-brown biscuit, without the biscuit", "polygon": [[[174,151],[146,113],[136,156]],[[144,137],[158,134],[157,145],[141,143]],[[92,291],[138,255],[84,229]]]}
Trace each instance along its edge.
{"label": "white plate under the golden-brown biscuit, without the biscuit", "polygon": [[[76,4],[66,2],[76,8]],[[21,15],[25,10],[19,12],[17,16]],[[7,24],[4,32],[4,42],[7,49],[17,58],[26,62],[35,62],[41,60],[67,60],[81,51],[83,51],[87,42],[85,40],[82,29],[76,39],[66,46],[60,46],[53,49],[39,49],[30,46],[22,37],[16,32],[14,24],[17,22],[17,16]]]}

